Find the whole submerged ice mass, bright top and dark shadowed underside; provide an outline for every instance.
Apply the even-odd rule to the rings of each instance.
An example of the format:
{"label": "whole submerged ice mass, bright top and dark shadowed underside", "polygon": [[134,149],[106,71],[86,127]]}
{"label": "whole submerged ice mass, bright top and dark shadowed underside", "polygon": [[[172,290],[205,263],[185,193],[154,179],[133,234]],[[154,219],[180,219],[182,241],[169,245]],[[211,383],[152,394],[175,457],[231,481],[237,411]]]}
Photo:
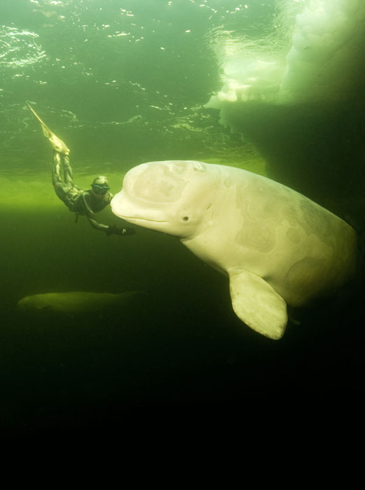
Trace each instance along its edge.
{"label": "whole submerged ice mass, bright top and dark shadowed underside", "polygon": [[271,29],[216,36],[221,87],[206,108],[253,144],[270,178],[364,234],[365,3],[275,6]]}

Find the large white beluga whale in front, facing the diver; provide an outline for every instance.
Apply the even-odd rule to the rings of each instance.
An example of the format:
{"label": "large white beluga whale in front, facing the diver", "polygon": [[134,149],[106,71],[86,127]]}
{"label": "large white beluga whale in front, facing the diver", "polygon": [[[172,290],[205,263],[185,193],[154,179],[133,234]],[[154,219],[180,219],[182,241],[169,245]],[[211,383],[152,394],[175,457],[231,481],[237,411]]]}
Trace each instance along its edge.
{"label": "large white beluga whale in front, facing the diver", "polygon": [[235,167],[148,162],[125,174],[116,216],[179,237],[229,277],[237,316],[280,339],[287,304],[300,307],[354,277],[357,235],[296,191]]}

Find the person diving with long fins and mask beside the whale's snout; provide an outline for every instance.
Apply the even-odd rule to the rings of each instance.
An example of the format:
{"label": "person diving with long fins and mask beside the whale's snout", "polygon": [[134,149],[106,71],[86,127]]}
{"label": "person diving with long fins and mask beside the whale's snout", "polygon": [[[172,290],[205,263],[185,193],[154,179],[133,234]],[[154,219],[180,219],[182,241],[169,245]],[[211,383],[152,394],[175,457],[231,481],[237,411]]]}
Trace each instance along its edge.
{"label": "person diving with long fins and mask beside the whale's snout", "polygon": [[[102,211],[111,202],[113,195],[109,193],[109,183],[106,177],[98,176],[92,181],[90,190],[83,190],[76,186],[72,177],[72,169],[69,163],[69,148],[62,139],[58,138],[49,127],[46,126],[36,111],[27,102],[27,106],[41,123],[44,136],[53,147],[52,183],[55,193],[70,211],[78,216],[86,216],[92,228],[105,232],[106,235],[135,235],[133,228],[119,228],[116,225],[103,225],[95,219],[95,213]],[[62,174],[63,172],[63,179]]]}

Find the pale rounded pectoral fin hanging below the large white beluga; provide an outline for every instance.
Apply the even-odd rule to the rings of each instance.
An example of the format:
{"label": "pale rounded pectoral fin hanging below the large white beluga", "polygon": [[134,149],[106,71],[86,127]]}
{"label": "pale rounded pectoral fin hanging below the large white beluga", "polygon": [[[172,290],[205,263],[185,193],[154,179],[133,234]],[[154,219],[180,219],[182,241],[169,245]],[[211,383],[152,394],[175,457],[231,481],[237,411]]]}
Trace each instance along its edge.
{"label": "pale rounded pectoral fin hanging below the large white beluga", "polygon": [[260,276],[242,271],[229,274],[235,314],[256,332],[280,339],[287,326],[287,303]]}

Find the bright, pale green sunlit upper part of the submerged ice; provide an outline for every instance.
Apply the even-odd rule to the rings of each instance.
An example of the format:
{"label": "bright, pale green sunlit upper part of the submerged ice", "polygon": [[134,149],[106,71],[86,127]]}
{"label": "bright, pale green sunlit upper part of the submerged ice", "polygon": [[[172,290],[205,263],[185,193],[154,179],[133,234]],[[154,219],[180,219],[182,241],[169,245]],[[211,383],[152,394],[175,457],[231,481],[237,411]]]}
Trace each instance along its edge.
{"label": "bright, pale green sunlit upper part of the submerged ice", "polygon": [[298,103],[347,99],[361,86],[362,0],[277,0],[276,22],[259,38],[215,43],[222,87],[208,107],[247,100]]}

